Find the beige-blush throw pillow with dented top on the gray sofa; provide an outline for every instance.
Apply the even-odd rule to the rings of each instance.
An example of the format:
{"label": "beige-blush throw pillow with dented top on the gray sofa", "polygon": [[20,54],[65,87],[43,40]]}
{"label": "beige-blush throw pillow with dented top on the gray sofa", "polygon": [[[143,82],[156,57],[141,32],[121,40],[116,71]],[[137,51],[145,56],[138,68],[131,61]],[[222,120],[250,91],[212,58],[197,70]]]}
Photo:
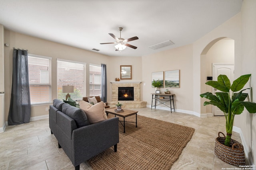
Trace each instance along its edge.
{"label": "beige-blush throw pillow with dented top on the gray sofa", "polygon": [[81,100],[80,108],[84,110],[90,123],[97,123],[108,119],[103,102],[99,102],[95,105],[90,105],[90,103]]}

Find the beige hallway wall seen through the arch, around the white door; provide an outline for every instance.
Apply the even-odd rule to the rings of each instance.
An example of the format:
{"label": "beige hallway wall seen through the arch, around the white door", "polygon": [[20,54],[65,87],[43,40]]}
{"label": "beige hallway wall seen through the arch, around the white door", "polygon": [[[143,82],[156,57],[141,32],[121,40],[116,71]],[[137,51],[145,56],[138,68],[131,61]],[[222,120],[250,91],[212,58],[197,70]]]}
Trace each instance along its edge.
{"label": "beige hallway wall seen through the arch, around the white door", "polygon": [[[220,37],[214,39],[202,51],[200,55],[200,92],[212,92],[212,88],[205,84],[206,77],[212,77],[212,63],[234,63],[234,39]],[[201,98],[201,113],[213,116],[212,106],[204,106],[205,98]]]}

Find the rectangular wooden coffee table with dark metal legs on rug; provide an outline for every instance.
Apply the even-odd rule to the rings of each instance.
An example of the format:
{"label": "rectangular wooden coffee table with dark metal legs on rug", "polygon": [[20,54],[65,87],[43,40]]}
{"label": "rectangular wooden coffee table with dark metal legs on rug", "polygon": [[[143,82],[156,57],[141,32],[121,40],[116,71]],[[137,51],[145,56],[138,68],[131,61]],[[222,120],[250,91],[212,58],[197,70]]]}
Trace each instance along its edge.
{"label": "rectangular wooden coffee table with dark metal legs on rug", "polygon": [[[116,112],[115,111],[116,107],[111,107],[111,108],[107,108],[106,113],[110,113],[116,116],[120,116],[124,118],[124,125],[122,124],[122,121],[119,121],[121,123],[121,125],[124,127],[124,133],[125,133],[125,122],[130,122],[130,123],[136,123],[136,127],[137,127],[137,113],[138,111],[135,110],[131,110],[131,109],[122,109],[124,110],[123,112]],[[136,122],[131,122],[131,121],[125,121],[125,118],[131,115],[136,115]]]}

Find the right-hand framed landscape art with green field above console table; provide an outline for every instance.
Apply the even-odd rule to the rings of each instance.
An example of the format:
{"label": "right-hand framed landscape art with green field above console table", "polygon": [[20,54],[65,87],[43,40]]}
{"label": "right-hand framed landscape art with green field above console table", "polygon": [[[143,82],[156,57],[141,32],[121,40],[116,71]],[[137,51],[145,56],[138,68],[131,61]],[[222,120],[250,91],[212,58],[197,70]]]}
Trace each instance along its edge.
{"label": "right-hand framed landscape art with green field above console table", "polygon": [[179,88],[180,87],[180,70],[171,70],[164,72],[164,87]]}

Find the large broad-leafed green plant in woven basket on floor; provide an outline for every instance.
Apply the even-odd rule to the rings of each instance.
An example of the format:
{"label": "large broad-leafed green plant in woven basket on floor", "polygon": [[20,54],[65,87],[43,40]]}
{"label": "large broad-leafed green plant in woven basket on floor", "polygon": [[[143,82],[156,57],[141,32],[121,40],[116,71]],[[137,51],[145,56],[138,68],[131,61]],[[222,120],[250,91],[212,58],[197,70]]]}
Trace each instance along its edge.
{"label": "large broad-leafed green plant in woven basket on floor", "polygon": [[[248,94],[243,93],[246,89],[242,90],[250,76],[251,74],[242,75],[230,85],[230,80],[226,75],[219,75],[218,81],[208,81],[205,84],[212,86],[221,92],[216,92],[216,95],[210,92],[200,94],[202,98],[210,100],[204,102],[204,106],[211,104],[224,112],[227,136],[222,132],[218,133],[218,137],[215,140],[214,152],[216,156],[224,162],[236,166],[245,165],[245,157],[242,144],[231,139],[234,117],[235,115],[240,115],[243,112],[244,107],[249,113],[256,113],[256,103],[244,102]],[[231,96],[230,90],[232,91]],[[222,133],[224,137],[220,137],[220,133]]]}

